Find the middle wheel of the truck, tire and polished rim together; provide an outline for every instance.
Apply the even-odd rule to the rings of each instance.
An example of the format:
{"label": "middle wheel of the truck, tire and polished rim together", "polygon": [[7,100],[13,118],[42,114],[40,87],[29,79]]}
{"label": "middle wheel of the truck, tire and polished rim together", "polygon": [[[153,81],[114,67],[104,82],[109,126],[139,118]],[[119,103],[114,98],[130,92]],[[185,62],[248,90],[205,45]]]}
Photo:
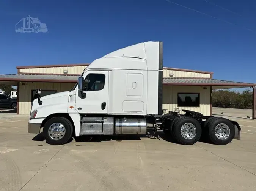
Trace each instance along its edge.
{"label": "middle wheel of the truck, tire and polished rim together", "polygon": [[200,139],[202,129],[197,120],[187,116],[180,116],[174,120],[172,133],[180,144],[193,145]]}

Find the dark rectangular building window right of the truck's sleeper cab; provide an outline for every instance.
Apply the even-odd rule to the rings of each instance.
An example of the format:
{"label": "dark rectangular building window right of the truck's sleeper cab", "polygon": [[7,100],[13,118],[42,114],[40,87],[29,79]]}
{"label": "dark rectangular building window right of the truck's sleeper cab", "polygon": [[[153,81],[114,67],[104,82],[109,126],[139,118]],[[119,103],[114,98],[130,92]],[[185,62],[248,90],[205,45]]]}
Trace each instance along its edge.
{"label": "dark rectangular building window right of the truck's sleeper cab", "polygon": [[178,93],[179,107],[199,107],[200,94],[198,93]]}

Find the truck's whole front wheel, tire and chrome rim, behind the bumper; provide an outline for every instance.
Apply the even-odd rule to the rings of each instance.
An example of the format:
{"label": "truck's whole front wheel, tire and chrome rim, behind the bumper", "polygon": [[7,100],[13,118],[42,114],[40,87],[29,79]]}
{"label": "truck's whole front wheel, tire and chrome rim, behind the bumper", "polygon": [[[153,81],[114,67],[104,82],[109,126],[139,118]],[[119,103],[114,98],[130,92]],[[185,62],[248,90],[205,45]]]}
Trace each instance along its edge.
{"label": "truck's whole front wheel, tire and chrome rim, behind the bumper", "polygon": [[72,123],[64,117],[49,119],[43,128],[44,139],[50,145],[63,145],[71,138],[73,133]]}

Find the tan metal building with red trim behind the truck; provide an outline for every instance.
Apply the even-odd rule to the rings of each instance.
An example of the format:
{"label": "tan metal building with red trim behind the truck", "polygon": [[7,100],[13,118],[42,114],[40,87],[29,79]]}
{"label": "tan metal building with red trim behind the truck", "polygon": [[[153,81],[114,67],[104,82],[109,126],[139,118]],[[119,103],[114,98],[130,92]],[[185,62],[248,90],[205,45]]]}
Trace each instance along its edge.
{"label": "tan metal building with red trim behind the truck", "polygon": [[[77,77],[88,65],[18,66],[17,74],[0,75],[0,83],[17,86],[17,114],[30,114],[36,89],[42,90],[42,96],[68,91],[74,87]],[[252,87],[255,100],[254,84],[215,80],[212,77],[212,72],[164,67],[164,112],[178,108],[180,111],[188,109],[209,116],[212,114],[212,89]]]}

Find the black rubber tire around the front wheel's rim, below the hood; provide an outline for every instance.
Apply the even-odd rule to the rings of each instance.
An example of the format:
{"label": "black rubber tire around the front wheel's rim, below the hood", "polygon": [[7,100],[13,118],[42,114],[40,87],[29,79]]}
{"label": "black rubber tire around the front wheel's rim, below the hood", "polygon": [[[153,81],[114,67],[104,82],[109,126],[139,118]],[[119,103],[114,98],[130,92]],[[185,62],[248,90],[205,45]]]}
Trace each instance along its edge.
{"label": "black rubber tire around the front wheel's rim, below the hood", "polygon": [[[61,136],[58,137],[57,136],[58,139],[53,139],[52,137],[50,137],[48,132],[50,131],[50,129],[52,129],[51,127],[54,123],[63,124],[64,129],[66,130],[63,137],[61,137]],[[50,145],[63,145],[63,144],[65,144],[71,138],[72,133],[73,133],[72,123],[64,117],[53,117],[53,118],[49,119],[45,123],[44,128],[43,128],[44,139]]]}

